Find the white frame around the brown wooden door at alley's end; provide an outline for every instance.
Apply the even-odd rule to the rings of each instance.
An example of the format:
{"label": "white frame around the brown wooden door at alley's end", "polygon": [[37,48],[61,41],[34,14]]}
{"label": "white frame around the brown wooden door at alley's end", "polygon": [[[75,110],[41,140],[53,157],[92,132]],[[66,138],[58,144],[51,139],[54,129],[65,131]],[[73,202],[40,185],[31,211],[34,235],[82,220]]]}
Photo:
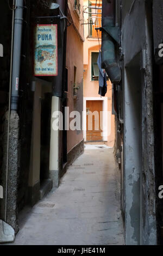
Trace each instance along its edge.
{"label": "white frame around the brown wooden door at alley's end", "polygon": [[83,98],[83,136],[86,142],[86,101],[103,101],[103,141],[108,141],[108,97],[84,97]]}

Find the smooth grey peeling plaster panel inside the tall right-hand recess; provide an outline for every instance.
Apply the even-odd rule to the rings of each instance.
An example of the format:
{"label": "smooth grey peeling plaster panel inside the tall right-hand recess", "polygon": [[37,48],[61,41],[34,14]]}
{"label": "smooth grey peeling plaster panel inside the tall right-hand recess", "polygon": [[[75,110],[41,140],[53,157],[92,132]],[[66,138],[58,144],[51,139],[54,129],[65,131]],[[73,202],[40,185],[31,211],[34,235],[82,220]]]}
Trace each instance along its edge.
{"label": "smooth grey peeling plaster panel inside the tall right-hand recess", "polygon": [[140,240],[141,84],[139,67],[128,68],[124,82],[124,181],[127,245]]}

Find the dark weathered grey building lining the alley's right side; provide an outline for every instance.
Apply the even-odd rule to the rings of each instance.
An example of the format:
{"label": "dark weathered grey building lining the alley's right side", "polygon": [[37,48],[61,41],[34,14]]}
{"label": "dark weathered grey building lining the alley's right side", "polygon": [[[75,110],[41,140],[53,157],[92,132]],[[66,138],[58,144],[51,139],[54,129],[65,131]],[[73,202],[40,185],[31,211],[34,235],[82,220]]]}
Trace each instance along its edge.
{"label": "dark weathered grey building lining the alley's right side", "polygon": [[114,84],[126,245],[162,243],[162,1],[103,1],[102,67]]}

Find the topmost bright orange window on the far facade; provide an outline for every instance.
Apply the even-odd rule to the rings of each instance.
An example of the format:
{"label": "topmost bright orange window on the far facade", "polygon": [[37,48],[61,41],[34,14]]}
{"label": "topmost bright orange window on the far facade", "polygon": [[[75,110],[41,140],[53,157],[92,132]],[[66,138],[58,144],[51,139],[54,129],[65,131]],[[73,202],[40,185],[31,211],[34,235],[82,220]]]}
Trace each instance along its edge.
{"label": "topmost bright orange window on the far facade", "polygon": [[101,38],[101,32],[96,28],[102,27],[102,4],[95,4],[89,1],[89,37]]}

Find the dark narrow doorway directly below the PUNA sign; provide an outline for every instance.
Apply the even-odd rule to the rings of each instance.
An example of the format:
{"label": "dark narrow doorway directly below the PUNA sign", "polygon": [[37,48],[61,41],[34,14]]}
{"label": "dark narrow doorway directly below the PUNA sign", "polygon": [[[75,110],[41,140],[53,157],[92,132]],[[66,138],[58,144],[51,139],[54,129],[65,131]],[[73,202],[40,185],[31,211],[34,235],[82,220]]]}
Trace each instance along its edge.
{"label": "dark narrow doorway directly below the PUNA sign", "polygon": [[30,150],[30,169],[28,178],[28,202],[34,205],[51,190],[49,179],[49,150],[51,129],[52,84],[35,78]]}

